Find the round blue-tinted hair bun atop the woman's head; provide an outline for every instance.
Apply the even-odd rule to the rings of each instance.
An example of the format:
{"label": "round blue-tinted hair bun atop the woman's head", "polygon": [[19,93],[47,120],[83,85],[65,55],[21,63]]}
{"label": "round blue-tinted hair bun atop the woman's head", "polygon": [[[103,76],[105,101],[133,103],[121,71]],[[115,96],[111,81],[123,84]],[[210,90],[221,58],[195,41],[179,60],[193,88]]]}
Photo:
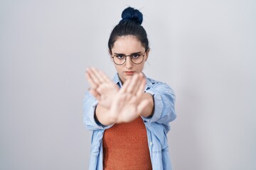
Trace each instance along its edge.
{"label": "round blue-tinted hair bun atop the woman's head", "polygon": [[128,7],[122,11],[122,20],[120,22],[122,21],[133,21],[141,25],[143,21],[143,15],[139,10]]}

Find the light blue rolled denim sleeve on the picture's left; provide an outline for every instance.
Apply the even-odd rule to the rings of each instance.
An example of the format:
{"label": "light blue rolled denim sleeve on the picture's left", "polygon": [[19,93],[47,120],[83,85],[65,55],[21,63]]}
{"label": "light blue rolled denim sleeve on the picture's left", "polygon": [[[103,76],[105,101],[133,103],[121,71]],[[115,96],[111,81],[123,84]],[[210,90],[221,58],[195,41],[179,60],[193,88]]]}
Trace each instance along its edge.
{"label": "light blue rolled denim sleeve on the picture's left", "polygon": [[85,92],[85,98],[82,102],[83,123],[87,130],[100,130],[110,128],[112,125],[105,126],[99,121],[95,120],[95,109],[97,107],[97,100],[89,91]]}

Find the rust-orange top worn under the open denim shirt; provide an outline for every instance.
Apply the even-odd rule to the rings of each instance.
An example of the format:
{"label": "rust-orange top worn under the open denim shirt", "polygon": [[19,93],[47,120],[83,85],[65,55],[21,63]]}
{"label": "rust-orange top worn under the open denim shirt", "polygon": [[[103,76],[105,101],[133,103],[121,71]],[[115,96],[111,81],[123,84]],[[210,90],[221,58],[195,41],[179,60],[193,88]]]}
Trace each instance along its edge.
{"label": "rust-orange top worn under the open denim shirt", "polygon": [[146,128],[141,117],[115,124],[103,135],[105,170],[152,169]]}

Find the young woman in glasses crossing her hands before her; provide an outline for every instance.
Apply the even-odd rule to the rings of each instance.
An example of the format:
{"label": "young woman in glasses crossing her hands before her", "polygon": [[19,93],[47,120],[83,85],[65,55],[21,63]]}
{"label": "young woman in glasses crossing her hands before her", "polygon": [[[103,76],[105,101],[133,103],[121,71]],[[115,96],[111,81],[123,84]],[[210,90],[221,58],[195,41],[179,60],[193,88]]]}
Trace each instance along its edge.
{"label": "young woman in glasses crossing her hands before her", "polygon": [[89,169],[171,169],[166,134],[176,118],[174,91],[143,73],[149,41],[142,13],[128,7],[108,42],[117,74],[113,81],[89,68],[83,103],[92,130]]}

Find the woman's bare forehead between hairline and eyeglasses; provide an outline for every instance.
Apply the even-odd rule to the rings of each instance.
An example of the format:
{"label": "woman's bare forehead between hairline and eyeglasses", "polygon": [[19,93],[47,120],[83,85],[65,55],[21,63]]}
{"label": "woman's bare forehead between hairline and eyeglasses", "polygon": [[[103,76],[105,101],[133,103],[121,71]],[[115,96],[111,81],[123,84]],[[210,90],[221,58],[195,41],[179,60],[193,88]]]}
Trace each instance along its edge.
{"label": "woman's bare forehead between hairline and eyeglasses", "polygon": [[142,46],[142,42],[140,42],[133,35],[126,35],[118,37],[114,42],[114,46],[112,47],[112,52],[117,53],[133,53],[133,52],[143,52],[145,48]]}

